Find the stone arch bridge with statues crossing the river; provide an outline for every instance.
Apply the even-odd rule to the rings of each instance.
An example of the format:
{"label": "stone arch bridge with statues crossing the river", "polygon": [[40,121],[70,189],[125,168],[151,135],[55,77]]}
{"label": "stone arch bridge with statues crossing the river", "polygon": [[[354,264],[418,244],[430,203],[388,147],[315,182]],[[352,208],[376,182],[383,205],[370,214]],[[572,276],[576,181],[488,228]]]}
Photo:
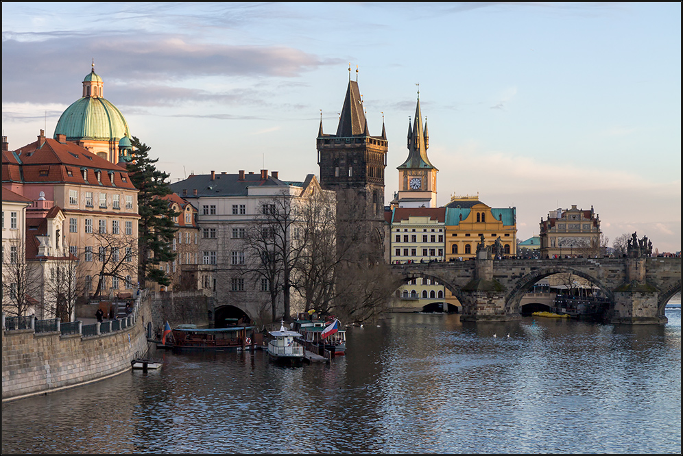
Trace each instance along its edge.
{"label": "stone arch bridge with statues crossing the river", "polygon": [[572,273],[608,296],[612,323],[665,323],[664,306],[681,291],[680,258],[473,259],[465,262],[394,264],[401,281],[435,279],[462,304],[462,320],[520,318],[522,296],[538,280]]}

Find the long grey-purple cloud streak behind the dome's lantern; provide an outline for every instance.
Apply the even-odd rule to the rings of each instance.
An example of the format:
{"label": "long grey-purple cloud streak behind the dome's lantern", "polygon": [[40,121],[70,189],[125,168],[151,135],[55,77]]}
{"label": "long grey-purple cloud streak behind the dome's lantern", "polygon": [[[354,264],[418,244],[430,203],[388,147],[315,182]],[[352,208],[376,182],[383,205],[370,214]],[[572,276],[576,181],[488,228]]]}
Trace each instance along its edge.
{"label": "long grey-purple cloud streak behind the dome's lantern", "polygon": [[139,92],[142,97],[136,100],[142,105],[201,97],[196,88],[171,88],[191,86],[198,78],[291,78],[339,63],[282,45],[214,44],[169,34],[3,34],[2,47],[3,103],[71,103],[80,95],[93,56],[106,92],[117,82],[151,86]]}

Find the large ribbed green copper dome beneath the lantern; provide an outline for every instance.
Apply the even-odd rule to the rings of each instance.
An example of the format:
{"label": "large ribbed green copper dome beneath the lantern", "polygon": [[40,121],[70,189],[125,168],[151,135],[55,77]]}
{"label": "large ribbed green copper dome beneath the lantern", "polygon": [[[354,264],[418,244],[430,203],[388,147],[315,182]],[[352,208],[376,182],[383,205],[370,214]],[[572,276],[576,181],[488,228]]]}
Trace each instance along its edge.
{"label": "large ribbed green copper dome beneath the lantern", "polygon": [[101,97],[83,97],[67,107],[55,127],[55,138],[58,134],[66,135],[67,141],[112,140],[130,136],[128,123],[121,111]]}

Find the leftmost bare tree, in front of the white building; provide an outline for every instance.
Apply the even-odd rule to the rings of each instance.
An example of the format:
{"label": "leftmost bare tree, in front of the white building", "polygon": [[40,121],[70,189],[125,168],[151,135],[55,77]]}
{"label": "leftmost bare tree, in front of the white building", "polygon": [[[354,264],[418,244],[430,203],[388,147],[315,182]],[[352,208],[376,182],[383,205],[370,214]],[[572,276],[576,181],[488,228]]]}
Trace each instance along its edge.
{"label": "leftmost bare tree, in front of the white building", "polygon": [[[2,309],[10,316],[23,316],[41,299],[38,270],[26,261],[22,239],[9,240],[2,255]],[[38,299],[36,299],[38,298]]]}

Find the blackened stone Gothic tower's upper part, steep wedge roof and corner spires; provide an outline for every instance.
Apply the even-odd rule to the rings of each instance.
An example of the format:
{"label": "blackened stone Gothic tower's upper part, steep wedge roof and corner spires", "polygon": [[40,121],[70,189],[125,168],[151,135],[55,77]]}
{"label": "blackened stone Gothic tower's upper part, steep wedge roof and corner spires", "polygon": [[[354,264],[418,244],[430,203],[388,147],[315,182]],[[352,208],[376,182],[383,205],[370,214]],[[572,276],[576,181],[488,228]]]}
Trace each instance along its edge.
{"label": "blackened stone Gothic tower's upper part, steep wedge roof and corner spires", "polygon": [[[370,136],[368,121],[358,81],[349,81],[346,98],[339,116],[337,134],[324,134],[322,115],[317,134],[317,164],[320,166],[320,186],[357,194],[366,207],[364,218],[384,220],[384,168],[387,166],[388,144],[384,123],[382,135]],[[358,79],[358,70],[356,70]]]}

